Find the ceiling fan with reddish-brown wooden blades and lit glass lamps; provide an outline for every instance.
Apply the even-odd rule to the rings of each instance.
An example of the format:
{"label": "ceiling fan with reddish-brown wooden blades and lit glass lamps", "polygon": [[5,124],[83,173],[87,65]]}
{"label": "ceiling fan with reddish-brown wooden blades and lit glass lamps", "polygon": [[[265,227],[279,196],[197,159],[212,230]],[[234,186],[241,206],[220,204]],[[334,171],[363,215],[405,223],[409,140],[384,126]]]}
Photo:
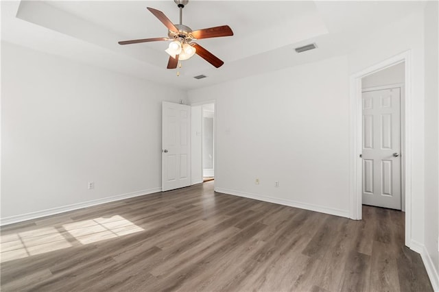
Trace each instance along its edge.
{"label": "ceiling fan with reddish-brown wooden blades and lit glass lamps", "polygon": [[[190,27],[182,24],[182,10],[189,0],[174,0],[178,8],[180,8],[180,23],[174,24],[167,18],[163,12],[154,8],[148,7],[154,16],[161,21],[168,30],[167,38],[142,38],[140,40],[123,40],[119,45],[137,44],[139,42],[156,42],[160,40],[171,40],[169,47],[165,50],[169,54],[169,61],[167,69],[176,69],[178,62],[191,58],[195,53],[211,63],[216,68],[222,66],[224,62],[219,60],[213,53],[204,49],[193,40],[200,40],[202,38],[217,38],[219,36],[233,36],[232,29],[228,25],[217,27],[209,27],[205,29],[192,30]],[[181,66],[181,64],[180,64]]]}

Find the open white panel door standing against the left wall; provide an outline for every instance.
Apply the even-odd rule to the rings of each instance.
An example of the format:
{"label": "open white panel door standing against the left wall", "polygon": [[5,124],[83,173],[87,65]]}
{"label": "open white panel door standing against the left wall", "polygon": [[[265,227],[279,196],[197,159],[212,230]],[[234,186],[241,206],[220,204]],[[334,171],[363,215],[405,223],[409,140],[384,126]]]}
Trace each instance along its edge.
{"label": "open white panel door standing against the left wall", "polygon": [[162,190],[191,185],[191,107],[163,101]]}

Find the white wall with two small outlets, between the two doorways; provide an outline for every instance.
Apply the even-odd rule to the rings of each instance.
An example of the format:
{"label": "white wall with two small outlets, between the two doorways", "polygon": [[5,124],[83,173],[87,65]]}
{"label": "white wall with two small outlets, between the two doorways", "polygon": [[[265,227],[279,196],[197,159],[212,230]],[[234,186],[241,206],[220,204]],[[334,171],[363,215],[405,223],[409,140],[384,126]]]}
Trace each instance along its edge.
{"label": "white wall with two small outlets, between the two doorways", "polygon": [[347,217],[347,66],[332,58],[189,91],[216,99],[217,191]]}

